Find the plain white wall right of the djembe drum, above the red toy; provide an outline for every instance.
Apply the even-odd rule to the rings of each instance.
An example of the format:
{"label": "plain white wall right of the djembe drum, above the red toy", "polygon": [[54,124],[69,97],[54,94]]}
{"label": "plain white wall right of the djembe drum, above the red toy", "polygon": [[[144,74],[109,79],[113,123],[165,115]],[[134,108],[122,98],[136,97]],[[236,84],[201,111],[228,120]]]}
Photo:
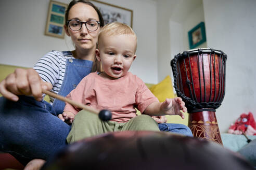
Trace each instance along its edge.
{"label": "plain white wall right of the djembe drum, above the red toy", "polygon": [[203,0],[208,47],[227,54],[226,94],[216,117],[226,131],[240,114],[256,119],[256,1]]}

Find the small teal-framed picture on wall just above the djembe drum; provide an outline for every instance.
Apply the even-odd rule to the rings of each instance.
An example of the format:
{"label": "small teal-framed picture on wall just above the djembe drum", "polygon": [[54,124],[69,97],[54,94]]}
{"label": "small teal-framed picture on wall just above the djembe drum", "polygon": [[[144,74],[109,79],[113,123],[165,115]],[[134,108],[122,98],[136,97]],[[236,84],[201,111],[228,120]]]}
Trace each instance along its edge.
{"label": "small teal-framed picture on wall just above the djembe drum", "polygon": [[204,22],[200,22],[188,32],[188,41],[190,49],[194,49],[206,42],[206,29],[204,27]]}

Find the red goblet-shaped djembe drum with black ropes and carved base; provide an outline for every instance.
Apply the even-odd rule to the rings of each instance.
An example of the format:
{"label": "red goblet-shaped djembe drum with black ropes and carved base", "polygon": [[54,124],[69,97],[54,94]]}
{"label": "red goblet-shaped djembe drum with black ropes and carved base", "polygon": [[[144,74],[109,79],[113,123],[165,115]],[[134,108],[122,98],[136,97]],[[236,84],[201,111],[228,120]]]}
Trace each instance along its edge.
{"label": "red goblet-shaped djembe drum with black ropes and carved base", "polygon": [[222,145],[215,109],[225,95],[227,55],[214,49],[178,53],[171,61],[174,88],[188,109],[193,135]]}

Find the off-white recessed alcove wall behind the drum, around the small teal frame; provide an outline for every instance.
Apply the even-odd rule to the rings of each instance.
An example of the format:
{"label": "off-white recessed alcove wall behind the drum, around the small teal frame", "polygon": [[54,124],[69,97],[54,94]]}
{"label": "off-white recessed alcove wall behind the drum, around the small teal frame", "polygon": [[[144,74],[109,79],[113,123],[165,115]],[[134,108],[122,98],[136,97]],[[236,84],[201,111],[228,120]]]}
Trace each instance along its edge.
{"label": "off-white recessed alcove wall behind the drum, around the small teal frame", "polygon": [[[172,74],[170,61],[179,52],[189,50],[188,31],[204,21],[202,0],[157,1],[158,81]],[[203,43],[198,48],[206,48]]]}

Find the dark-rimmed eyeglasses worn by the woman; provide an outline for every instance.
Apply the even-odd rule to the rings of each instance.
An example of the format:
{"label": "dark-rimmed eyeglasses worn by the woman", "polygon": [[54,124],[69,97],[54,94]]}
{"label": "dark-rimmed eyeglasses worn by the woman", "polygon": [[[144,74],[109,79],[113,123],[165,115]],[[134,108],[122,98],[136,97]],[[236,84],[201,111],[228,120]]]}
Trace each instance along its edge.
{"label": "dark-rimmed eyeglasses worn by the woman", "polygon": [[88,31],[91,31],[91,32],[94,32],[98,29],[99,27],[99,21],[86,21],[86,22],[82,22],[82,21],[79,21],[79,20],[68,20],[68,25],[69,25],[69,28],[73,31],[79,31],[81,30],[82,28],[82,25],[85,24],[86,26],[86,29]]}

